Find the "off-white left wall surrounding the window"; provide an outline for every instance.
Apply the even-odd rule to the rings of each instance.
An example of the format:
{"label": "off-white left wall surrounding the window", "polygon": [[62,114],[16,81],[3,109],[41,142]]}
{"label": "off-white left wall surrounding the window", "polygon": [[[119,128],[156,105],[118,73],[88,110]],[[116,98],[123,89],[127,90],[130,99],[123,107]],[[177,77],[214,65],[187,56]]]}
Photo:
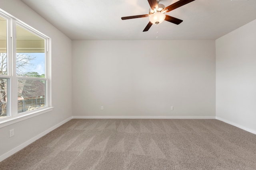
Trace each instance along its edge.
{"label": "off-white left wall surrounding the window", "polygon": [[[0,0],[0,8],[52,39],[53,111],[0,128],[0,161],[31,139],[72,116],[72,41],[20,0]],[[14,137],[9,138],[9,130]],[[14,149],[14,150],[12,150]]]}

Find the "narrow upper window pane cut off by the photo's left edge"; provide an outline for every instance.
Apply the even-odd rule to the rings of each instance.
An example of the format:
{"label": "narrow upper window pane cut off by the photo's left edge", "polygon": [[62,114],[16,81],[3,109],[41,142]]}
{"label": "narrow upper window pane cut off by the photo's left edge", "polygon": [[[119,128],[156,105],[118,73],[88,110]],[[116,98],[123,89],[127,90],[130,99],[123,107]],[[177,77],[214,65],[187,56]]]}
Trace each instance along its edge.
{"label": "narrow upper window pane cut off by the photo's left edge", "polygon": [[7,74],[6,19],[0,17],[0,74]]}

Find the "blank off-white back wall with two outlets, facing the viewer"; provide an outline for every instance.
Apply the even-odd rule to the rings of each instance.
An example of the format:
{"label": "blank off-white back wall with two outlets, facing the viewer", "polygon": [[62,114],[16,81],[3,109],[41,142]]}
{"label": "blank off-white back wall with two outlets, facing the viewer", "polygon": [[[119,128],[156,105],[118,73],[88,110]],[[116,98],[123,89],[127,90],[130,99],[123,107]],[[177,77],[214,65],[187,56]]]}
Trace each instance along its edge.
{"label": "blank off-white back wall with two outlets, facing the viewer", "polygon": [[214,40],[73,41],[72,51],[73,116],[215,117]]}

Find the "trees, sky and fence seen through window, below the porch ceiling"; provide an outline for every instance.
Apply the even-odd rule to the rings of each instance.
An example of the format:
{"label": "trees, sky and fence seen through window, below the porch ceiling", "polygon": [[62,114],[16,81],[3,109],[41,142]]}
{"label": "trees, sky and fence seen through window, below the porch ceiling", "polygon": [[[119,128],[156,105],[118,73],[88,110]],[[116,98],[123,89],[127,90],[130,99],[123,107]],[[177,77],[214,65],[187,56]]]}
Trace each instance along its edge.
{"label": "trees, sky and fence seen through window, below the porch ceiling", "polygon": [[[40,54],[20,54],[16,55],[16,69],[17,76],[22,77],[37,77],[45,78],[44,72],[39,70],[36,72],[38,67],[41,68],[38,63],[38,56]],[[42,57],[41,57],[42,58]],[[44,59],[44,56],[43,56]],[[0,53],[0,74],[6,74],[6,53]],[[39,64],[39,65],[38,65]],[[29,68],[28,70],[25,68]],[[35,70],[34,72],[32,70]],[[31,71],[31,72],[30,72]],[[45,96],[45,81],[44,80],[18,80],[18,113],[29,111],[39,107],[43,107]],[[6,106],[7,106],[7,79],[0,78],[0,117],[6,117]]]}

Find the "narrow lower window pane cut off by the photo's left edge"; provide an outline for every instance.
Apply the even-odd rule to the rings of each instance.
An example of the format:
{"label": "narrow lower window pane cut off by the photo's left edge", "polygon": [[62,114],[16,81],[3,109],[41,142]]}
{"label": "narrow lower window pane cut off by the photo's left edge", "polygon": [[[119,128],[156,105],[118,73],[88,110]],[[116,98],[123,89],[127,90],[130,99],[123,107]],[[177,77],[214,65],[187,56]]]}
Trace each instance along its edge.
{"label": "narrow lower window pane cut off by the photo's left edge", "polygon": [[7,78],[0,78],[0,119],[9,116],[7,111],[8,85]]}

